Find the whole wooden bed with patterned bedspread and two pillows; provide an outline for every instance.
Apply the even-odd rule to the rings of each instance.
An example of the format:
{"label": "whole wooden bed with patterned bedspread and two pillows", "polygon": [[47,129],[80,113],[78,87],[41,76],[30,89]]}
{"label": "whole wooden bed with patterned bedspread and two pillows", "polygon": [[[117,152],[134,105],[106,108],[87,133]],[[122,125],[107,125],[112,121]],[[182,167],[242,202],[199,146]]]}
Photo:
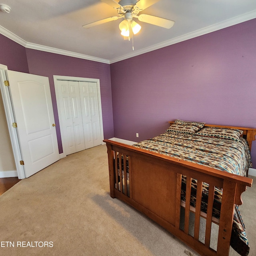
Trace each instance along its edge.
{"label": "whole wooden bed with patterned bedspread and two pillows", "polygon": [[228,256],[230,245],[248,255],[238,206],[246,186],[252,186],[246,176],[256,129],[169,123],[163,134],[135,145],[104,140],[110,196],[136,208],[202,256]]}

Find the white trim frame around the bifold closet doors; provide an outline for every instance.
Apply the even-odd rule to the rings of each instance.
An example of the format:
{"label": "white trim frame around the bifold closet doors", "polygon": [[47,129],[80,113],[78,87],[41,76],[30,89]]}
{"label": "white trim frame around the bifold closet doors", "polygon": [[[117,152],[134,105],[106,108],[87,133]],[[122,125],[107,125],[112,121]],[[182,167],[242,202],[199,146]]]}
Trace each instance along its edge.
{"label": "white trim frame around the bifold closet doors", "polygon": [[104,133],[103,133],[103,120],[102,120],[102,106],[101,106],[101,96],[100,96],[100,79],[97,78],[84,78],[84,77],[73,77],[73,76],[53,76],[54,79],[54,89],[55,89],[55,95],[56,95],[56,102],[57,102],[57,108],[58,108],[58,118],[60,123],[60,136],[61,136],[61,142],[62,142],[62,156],[66,157],[66,149],[63,139],[63,125],[61,116],[59,114],[60,112],[60,102],[59,102],[59,96],[58,96],[58,80],[65,80],[65,81],[78,81],[78,82],[96,82],[97,84],[97,95],[98,95],[98,107],[99,107],[99,117],[100,117],[100,138],[101,138],[101,144],[103,145],[103,139],[104,139]]}

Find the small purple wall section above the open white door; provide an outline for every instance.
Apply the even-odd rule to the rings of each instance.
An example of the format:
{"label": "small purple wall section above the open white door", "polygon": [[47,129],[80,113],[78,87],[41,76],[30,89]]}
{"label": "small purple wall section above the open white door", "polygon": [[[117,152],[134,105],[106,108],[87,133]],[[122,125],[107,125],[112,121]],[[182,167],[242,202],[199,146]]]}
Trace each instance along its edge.
{"label": "small purple wall section above the open white door", "polygon": [[0,34],[0,64],[9,70],[28,73],[25,47]]}

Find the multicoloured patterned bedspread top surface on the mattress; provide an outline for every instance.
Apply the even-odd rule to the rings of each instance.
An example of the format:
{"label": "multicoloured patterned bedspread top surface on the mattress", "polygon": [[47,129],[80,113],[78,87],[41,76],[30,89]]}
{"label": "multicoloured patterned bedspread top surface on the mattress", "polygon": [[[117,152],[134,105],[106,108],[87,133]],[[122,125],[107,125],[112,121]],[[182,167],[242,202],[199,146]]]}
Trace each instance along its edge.
{"label": "multicoloured patterned bedspread top surface on the mattress", "polygon": [[240,176],[246,176],[246,170],[252,167],[249,146],[243,138],[236,142],[165,132],[133,146]]}

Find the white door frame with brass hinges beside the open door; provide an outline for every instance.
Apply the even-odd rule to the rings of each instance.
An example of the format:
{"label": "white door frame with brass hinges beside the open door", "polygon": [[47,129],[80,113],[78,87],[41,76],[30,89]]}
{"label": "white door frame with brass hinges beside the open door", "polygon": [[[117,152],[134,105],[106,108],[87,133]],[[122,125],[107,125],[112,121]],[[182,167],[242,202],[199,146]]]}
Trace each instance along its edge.
{"label": "white door frame with brass hinges beside the open door", "polygon": [[20,150],[20,143],[18,140],[18,133],[17,129],[12,127],[12,123],[15,122],[14,112],[12,109],[12,101],[10,97],[9,87],[4,85],[4,81],[7,80],[6,70],[8,70],[8,67],[0,64],[0,89],[18,178],[24,179],[26,177],[24,167],[20,164],[20,160],[22,160],[22,154]]}

